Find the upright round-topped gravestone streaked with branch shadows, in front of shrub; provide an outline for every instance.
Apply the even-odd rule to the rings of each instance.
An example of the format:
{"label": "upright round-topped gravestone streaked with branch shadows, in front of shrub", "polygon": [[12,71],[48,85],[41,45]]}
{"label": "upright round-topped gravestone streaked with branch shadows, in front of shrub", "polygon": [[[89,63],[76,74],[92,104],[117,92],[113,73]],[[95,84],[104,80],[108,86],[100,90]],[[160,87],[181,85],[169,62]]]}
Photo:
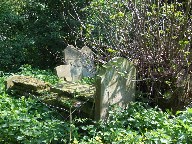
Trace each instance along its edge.
{"label": "upright round-topped gravestone streaked with branch shadows, in front of shrub", "polygon": [[98,72],[95,119],[106,119],[110,105],[125,108],[135,97],[136,68],[125,58],[115,57]]}

